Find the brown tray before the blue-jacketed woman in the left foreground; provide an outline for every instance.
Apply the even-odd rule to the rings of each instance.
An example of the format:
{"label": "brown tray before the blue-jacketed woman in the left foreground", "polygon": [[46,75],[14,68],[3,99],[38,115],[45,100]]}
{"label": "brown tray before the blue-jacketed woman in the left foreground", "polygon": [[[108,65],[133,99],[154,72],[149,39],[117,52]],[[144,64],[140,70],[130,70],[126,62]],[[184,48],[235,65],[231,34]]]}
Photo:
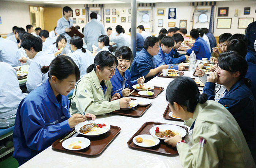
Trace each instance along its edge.
{"label": "brown tray before the blue-jacketed woman in the left foreground", "polygon": [[[86,137],[91,141],[90,146],[82,150],[67,150],[62,147],[62,142],[60,140],[65,136],[61,137],[60,139],[56,140],[52,143],[53,149],[64,150],[66,152],[72,153],[79,153],[84,154],[87,156],[95,156],[101,154],[102,151],[108,146],[108,144],[116,137],[116,135],[121,130],[118,126],[110,125],[110,130],[105,134],[96,136],[96,137],[87,137],[81,134],[78,134],[76,137]],[[73,136],[74,137],[74,136]]]}

